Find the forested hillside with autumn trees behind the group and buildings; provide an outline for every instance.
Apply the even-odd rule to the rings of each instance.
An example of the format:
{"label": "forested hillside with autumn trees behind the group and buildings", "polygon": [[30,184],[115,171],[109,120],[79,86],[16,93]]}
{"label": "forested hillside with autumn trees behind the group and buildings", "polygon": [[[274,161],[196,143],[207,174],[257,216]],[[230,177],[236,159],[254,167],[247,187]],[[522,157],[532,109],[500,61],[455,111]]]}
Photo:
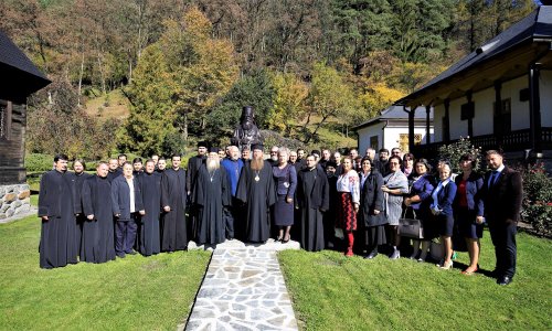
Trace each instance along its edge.
{"label": "forested hillside with autumn trees behind the group and buildings", "polygon": [[[255,107],[262,129],[339,143],[329,135],[347,136],[534,7],[2,0],[0,29],[53,81],[29,100],[28,150],[102,158],[225,142],[244,105]],[[89,99],[97,109],[86,109]],[[125,108],[127,117],[105,116]]]}

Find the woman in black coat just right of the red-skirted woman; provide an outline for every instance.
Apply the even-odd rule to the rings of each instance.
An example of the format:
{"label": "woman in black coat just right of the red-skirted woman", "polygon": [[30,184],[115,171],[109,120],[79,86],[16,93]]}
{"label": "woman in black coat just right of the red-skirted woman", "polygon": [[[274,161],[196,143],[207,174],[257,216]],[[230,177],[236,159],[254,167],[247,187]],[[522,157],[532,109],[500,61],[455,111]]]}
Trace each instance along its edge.
{"label": "woman in black coat just right of the red-skirted woman", "polygon": [[368,255],[374,258],[378,246],[385,245],[385,224],[388,220],[383,212],[383,177],[373,167],[368,157],[362,159],[360,171],[360,211],[359,223],[364,228],[364,244]]}

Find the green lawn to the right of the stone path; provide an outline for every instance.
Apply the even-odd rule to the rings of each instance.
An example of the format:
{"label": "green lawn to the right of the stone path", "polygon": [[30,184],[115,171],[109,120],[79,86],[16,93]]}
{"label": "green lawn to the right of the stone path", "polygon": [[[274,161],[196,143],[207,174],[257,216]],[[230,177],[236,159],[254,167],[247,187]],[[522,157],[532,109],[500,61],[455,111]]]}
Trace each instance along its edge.
{"label": "green lawn to the right of the stone path", "polygon": [[[492,270],[489,233],[481,268]],[[460,254],[459,263],[467,263]],[[346,258],[337,252],[291,252],[279,261],[305,330],[552,330],[552,242],[518,235],[518,271],[493,278],[439,270],[406,258]]]}

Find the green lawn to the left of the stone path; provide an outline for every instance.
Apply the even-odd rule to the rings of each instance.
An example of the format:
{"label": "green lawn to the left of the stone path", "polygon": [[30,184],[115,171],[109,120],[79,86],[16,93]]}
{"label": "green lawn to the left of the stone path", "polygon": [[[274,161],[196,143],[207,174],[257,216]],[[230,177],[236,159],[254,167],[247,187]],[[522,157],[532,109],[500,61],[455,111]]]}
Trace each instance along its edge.
{"label": "green lawn to the left of the stone path", "polygon": [[2,330],[174,330],[188,318],[211,256],[136,255],[43,270],[39,238],[35,216],[0,224]]}

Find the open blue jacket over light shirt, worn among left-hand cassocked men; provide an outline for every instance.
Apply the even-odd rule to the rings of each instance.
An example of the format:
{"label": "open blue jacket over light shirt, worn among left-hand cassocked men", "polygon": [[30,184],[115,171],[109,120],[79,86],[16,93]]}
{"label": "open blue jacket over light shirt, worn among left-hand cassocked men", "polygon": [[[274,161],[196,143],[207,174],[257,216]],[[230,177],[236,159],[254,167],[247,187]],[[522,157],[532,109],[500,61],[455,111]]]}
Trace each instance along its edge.
{"label": "open blue jacket over light shirt, worn among left-hand cassocked men", "polygon": [[[135,185],[135,212],[144,210],[140,184],[138,178],[132,179]],[[119,214],[118,221],[130,220],[130,186],[124,175],[115,178],[112,182],[112,209],[113,214]]]}

